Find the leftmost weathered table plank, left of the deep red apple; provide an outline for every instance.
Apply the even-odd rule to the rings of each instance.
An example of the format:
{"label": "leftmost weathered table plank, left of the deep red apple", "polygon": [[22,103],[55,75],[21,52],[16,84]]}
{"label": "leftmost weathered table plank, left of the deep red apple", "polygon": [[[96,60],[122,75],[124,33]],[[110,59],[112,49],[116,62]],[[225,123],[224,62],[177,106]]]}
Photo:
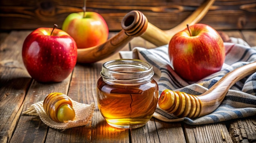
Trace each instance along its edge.
{"label": "leftmost weathered table plank, left of the deep red apple", "polygon": [[20,118],[31,78],[23,65],[20,46],[29,32],[11,32],[0,46],[0,142],[11,139]]}

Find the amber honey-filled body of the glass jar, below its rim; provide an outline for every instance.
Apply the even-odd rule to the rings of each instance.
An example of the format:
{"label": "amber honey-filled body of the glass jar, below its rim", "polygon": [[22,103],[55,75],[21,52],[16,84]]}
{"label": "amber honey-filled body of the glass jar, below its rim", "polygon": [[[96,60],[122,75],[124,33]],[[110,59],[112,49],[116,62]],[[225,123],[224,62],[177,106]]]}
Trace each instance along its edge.
{"label": "amber honey-filled body of the glass jar, below its rim", "polygon": [[[143,72],[146,70],[133,69],[127,65],[125,68],[128,69],[125,70],[122,67],[122,70],[119,70],[115,67],[115,71],[134,73],[134,71]],[[138,72],[135,74],[138,74]],[[118,76],[115,75],[115,77]],[[145,75],[145,77],[147,76]],[[118,78],[108,80],[103,76],[97,82],[99,111],[110,126],[138,128],[144,126],[155,112],[159,95],[157,82],[151,76],[143,82],[141,82],[142,80],[131,80],[131,78],[127,82],[122,79],[120,83]]]}

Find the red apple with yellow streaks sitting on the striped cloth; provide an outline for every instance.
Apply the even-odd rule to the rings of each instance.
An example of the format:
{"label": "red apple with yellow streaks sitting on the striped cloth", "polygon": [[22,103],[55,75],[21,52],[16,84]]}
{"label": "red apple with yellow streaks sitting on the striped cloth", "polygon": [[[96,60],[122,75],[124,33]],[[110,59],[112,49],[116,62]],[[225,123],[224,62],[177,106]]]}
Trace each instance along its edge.
{"label": "red apple with yellow streaks sitting on the striped cloth", "polygon": [[173,68],[181,78],[198,81],[220,71],[225,61],[225,46],[211,26],[194,24],[188,27],[172,37],[168,52]]}

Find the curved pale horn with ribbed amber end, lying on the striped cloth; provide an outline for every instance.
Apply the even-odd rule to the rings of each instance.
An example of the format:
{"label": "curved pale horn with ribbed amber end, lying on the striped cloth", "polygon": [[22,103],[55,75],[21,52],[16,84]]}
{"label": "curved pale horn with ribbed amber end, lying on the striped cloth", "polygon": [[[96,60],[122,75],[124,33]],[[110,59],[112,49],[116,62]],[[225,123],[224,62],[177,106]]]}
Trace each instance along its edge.
{"label": "curved pale horn with ribbed amber end, lying on the striped cloth", "polygon": [[239,67],[216,82],[201,95],[190,95],[180,91],[164,90],[159,97],[159,107],[177,117],[201,117],[218,108],[228,90],[239,80],[256,72],[256,62]]}

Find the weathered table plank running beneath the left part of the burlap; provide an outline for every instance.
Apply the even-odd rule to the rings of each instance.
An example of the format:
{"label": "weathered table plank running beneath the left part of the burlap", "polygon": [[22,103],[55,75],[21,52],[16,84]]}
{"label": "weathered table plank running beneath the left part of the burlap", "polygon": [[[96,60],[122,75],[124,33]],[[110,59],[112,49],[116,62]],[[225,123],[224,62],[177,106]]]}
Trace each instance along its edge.
{"label": "weathered table plank running beneath the left part of the burlap", "polygon": [[[49,84],[39,83],[33,80],[29,90],[27,91],[22,112],[26,111],[31,104],[44,100],[49,93],[61,92],[67,94],[70,78],[71,74],[62,82]],[[46,136],[55,137],[56,135],[52,132],[47,133],[47,130],[48,126],[45,125],[38,116],[22,115],[20,116],[16,130],[10,142],[43,143],[45,142]],[[55,129],[50,128],[49,130]],[[60,131],[56,130],[56,132]]]}

